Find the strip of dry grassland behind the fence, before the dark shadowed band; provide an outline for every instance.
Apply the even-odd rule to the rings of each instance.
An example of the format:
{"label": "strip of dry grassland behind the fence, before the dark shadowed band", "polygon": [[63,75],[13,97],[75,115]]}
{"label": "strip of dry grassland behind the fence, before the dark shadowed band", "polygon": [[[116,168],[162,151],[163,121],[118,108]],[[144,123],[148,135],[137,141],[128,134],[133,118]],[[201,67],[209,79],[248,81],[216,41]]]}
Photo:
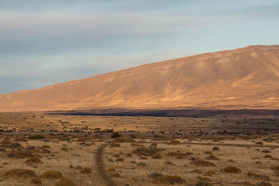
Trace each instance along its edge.
{"label": "strip of dry grassland behind the fence, before the dark shadowed band", "polygon": [[108,117],[69,116],[32,113],[0,113],[0,130],[59,131],[172,131],[172,132],[268,132],[277,133],[278,119],[186,118],[186,117]]}

